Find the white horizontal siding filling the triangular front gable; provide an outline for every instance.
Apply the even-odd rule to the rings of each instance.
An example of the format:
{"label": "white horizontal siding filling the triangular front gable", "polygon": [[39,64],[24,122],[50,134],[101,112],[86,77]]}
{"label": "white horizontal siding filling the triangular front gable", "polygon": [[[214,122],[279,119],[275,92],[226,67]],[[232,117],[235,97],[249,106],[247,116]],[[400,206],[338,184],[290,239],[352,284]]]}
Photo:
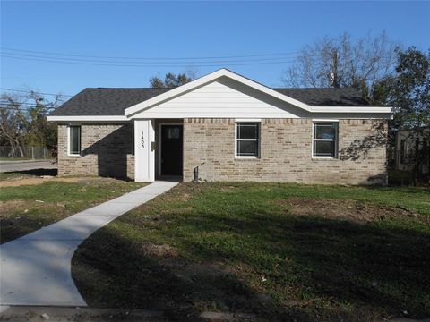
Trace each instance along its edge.
{"label": "white horizontal siding filling the triangular front gable", "polygon": [[298,118],[303,114],[297,106],[221,78],[150,106],[133,118]]}

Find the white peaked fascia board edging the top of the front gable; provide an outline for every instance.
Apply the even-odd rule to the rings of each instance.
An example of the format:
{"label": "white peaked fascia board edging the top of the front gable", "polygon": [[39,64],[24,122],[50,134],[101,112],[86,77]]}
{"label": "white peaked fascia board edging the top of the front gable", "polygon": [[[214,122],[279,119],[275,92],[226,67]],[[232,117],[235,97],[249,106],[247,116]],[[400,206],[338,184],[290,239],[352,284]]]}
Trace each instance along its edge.
{"label": "white peaked fascia board edging the top of the front gable", "polygon": [[195,88],[198,88],[202,85],[205,85],[213,80],[217,80],[220,77],[228,77],[229,79],[236,80],[242,84],[245,84],[253,89],[257,89],[262,91],[265,94],[270,95],[271,97],[277,97],[282,101],[285,101],[289,104],[292,104],[294,106],[300,107],[304,109],[305,111],[311,112],[311,106],[308,106],[307,104],[298,101],[297,99],[288,97],[284,94],[281,94],[277,92],[276,90],[270,89],[262,84],[259,84],[255,82],[254,80],[249,80],[241,75],[236,74],[235,72],[230,72],[227,69],[220,69],[216,72],[211,72],[210,74],[203,76],[197,80],[193,80],[189,83],[186,83],[185,85],[182,85],[180,87],[177,87],[176,89],[170,89],[169,91],[160,94],[156,97],[152,97],[142,103],[136,104],[135,106],[130,106],[125,109],[125,115],[127,117],[132,116],[133,114],[139,113],[142,110],[154,106],[156,104],[162,103],[164,101],[167,101],[170,98],[177,97],[189,90],[193,90]]}

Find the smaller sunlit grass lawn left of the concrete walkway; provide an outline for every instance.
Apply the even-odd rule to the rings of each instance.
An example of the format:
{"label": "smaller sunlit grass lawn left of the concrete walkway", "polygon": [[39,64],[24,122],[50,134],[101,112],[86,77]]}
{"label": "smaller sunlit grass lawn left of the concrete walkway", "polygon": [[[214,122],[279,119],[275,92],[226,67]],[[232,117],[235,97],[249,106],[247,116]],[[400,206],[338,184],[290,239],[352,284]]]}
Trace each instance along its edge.
{"label": "smaller sunlit grass lawn left of the concrete walkway", "polygon": [[[2,174],[0,181],[29,179],[30,174]],[[44,182],[0,188],[0,242],[52,224],[85,208],[113,199],[142,184],[107,178],[82,178],[80,182]]]}

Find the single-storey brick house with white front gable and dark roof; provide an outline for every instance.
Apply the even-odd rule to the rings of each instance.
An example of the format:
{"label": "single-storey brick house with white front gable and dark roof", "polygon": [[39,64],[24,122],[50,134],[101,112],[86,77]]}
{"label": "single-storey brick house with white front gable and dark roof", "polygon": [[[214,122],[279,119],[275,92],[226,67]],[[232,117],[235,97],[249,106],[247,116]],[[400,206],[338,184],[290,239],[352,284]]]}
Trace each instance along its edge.
{"label": "single-storey brick house with white front gable and dark roof", "polygon": [[48,116],[59,175],[346,184],[385,183],[385,147],[359,152],[390,118],[355,89],[270,89],[226,69],[176,89],[84,89]]}

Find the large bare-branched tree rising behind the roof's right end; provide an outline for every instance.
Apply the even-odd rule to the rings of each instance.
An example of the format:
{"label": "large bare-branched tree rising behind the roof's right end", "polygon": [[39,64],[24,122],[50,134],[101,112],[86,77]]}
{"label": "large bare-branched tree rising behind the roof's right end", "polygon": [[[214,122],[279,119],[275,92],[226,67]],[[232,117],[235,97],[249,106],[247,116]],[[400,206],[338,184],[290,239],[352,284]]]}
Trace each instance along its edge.
{"label": "large bare-branched tree rising behind the roof's right end", "polygon": [[282,80],[297,88],[355,87],[372,97],[375,81],[393,72],[399,47],[385,32],[357,40],[347,32],[339,38],[323,38],[300,50]]}

